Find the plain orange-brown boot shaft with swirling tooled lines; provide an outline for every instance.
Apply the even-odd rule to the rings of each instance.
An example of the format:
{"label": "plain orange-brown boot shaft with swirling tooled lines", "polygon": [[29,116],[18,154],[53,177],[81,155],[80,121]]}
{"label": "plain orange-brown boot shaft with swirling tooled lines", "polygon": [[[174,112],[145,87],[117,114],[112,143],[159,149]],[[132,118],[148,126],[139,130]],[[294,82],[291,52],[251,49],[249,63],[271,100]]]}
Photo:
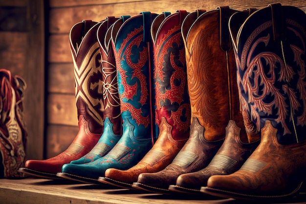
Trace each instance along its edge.
{"label": "plain orange-brown boot shaft with swirling tooled lines", "polygon": [[[201,14],[188,32],[183,28],[191,115],[204,127],[204,137],[209,141],[224,138],[229,120],[236,121],[242,128],[241,137],[245,137],[228,31],[229,18],[235,12],[222,6]],[[184,24],[188,26],[194,19],[192,15]]]}

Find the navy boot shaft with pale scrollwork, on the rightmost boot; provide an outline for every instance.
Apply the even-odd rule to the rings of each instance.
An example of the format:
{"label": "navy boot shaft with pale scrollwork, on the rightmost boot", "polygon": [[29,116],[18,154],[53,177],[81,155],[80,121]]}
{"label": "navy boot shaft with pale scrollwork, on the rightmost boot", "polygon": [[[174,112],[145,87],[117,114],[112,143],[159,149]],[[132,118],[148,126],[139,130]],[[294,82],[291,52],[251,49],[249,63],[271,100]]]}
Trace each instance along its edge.
{"label": "navy boot shaft with pale scrollwork, on the rightmost boot", "polygon": [[272,4],[232,35],[246,129],[258,134],[270,120],[281,144],[306,138],[305,17],[298,8]]}

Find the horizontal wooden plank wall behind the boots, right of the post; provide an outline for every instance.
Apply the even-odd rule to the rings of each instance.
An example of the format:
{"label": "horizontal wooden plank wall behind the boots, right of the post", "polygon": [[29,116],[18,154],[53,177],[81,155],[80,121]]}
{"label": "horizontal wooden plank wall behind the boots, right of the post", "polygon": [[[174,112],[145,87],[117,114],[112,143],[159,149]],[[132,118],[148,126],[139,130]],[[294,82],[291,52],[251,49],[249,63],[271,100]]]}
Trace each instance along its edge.
{"label": "horizontal wooden plank wall behind the boots, right of the post", "polygon": [[75,23],[84,19],[99,22],[107,16],[134,16],[142,11],[158,14],[179,9],[209,11],[223,5],[237,10],[260,9],[278,2],[306,11],[306,0],[49,0],[46,157],[64,151],[78,131],[68,41],[69,30]]}

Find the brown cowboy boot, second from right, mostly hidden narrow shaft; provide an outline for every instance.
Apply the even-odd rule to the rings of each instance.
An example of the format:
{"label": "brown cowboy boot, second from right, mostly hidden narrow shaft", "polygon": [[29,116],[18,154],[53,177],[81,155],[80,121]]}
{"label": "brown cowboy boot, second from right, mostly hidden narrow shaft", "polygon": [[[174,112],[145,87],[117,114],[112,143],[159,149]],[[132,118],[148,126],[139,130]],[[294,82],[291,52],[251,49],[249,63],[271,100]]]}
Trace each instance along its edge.
{"label": "brown cowboy boot, second from right, mostly hidden narrow shaft", "polygon": [[[233,11],[229,7],[220,7],[221,10],[221,24],[220,24],[220,52],[223,52],[224,55],[219,55],[220,58],[228,57],[226,62],[226,67],[228,68],[229,74],[229,84],[230,93],[231,93],[231,120],[229,121],[226,127],[225,140],[218,150],[217,154],[214,156],[212,161],[208,164],[207,167],[201,169],[197,172],[186,173],[180,175],[175,185],[170,185],[169,190],[175,192],[183,193],[201,193],[201,186],[207,185],[207,180],[212,175],[227,175],[237,171],[244,161],[251,155],[251,153],[256,149],[260,142],[259,134],[252,134],[246,132],[242,114],[240,113],[240,100],[239,100],[239,91],[237,86],[237,71],[235,64],[235,54],[231,44],[231,37],[228,30],[228,22],[230,16],[233,14]],[[245,11],[251,13],[254,9],[249,9]],[[242,13],[242,12],[241,12]],[[201,25],[208,24],[211,22],[210,18],[206,18],[207,15],[210,15],[210,12],[205,13],[199,19],[197,19],[194,26],[197,23]],[[218,19],[216,15],[215,18]],[[240,24],[241,25],[241,24]],[[194,29],[191,27],[189,30],[188,38],[186,39],[187,48],[189,48],[189,53],[191,53],[190,44],[192,45],[193,41],[190,43],[190,39],[194,39],[194,35],[197,34],[198,28]],[[223,45],[223,46],[221,46]],[[218,46],[218,45],[216,45]],[[193,56],[191,56],[193,57]]]}

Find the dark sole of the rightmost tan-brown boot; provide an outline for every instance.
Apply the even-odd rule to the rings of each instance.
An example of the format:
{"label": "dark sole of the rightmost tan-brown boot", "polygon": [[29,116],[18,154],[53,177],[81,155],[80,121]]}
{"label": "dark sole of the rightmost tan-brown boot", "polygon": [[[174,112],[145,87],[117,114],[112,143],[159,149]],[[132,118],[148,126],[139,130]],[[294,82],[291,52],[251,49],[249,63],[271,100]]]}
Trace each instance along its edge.
{"label": "dark sole of the rightmost tan-brown boot", "polygon": [[211,187],[201,187],[200,192],[206,193],[213,196],[219,196],[222,198],[233,198],[238,200],[284,200],[294,197],[296,194],[299,193],[299,189],[301,188],[302,183],[294,189],[292,192],[284,195],[250,195],[250,194],[242,194],[242,193],[236,193],[232,191],[226,191]]}

